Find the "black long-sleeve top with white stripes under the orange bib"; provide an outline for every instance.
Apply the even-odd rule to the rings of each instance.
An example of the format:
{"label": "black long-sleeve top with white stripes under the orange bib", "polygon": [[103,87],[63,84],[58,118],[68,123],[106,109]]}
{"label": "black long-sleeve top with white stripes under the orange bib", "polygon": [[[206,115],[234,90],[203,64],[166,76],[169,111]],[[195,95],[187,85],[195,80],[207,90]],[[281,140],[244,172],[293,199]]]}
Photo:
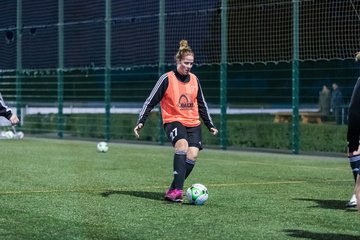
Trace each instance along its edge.
{"label": "black long-sleeve top with white stripes under the orange bib", "polygon": [[[177,77],[177,79],[181,82],[189,82],[190,77],[189,76],[183,76],[180,73],[178,73],[176,70],[174,70],[174,73]],[[205,126],[210,130],[211,128],[215,128],[214,123],[212,122],[212,119],[209,114],[209,109],[207,107],[200,81],[197,79],[199,90],[197,93],[197,101],[198,101],[198,109],[199,109],[199,116],[203,120]],[[146,99],[140,114],[139,119],[137,121],[137,124],[142,123],[144,124],[147,117],[149,116],[151,110],[159,104],[161,99],[164,97],[166,89],[169,85],[169,79],[167,77],[167,74],[163,74],[159,80],[157,81],[156,85],[152,89],[149,97]]]}

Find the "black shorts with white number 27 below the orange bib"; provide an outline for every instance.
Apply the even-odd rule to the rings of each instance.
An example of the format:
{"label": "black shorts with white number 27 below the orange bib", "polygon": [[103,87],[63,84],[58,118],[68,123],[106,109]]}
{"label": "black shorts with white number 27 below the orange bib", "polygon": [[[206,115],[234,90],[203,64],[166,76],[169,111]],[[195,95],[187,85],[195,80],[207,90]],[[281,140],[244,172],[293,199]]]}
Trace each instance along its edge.
{"label": "black shorts with white number 27 below the orange bib", "polygon": [[202,149],[201,144],[201,126],[185,127],[180,122],[166,123],[164,125],[166,136],[169,141],[175,146],[179,139],[186,139],[189,147],[197,147]]}

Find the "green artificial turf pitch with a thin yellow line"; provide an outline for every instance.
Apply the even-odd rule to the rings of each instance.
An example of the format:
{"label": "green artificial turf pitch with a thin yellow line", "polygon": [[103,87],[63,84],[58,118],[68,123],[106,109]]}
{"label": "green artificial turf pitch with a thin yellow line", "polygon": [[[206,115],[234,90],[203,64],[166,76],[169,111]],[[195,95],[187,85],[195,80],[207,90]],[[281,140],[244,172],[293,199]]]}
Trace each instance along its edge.
{"label": "green artificial turf pitch with a thin yellow line", "polygon": [[1,140],[0,239],[360,239],[346,158],[205,149],[169,203],[169,146]]}

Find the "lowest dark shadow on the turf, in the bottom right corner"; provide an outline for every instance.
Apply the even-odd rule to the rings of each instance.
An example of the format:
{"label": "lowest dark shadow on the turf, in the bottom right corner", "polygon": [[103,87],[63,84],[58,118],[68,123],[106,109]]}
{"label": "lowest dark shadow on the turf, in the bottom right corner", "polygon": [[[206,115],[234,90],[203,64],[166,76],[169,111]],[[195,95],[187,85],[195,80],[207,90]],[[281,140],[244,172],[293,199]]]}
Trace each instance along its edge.
{"label": "lowest dark shadow on the turf, in the bottom right corner", "polygon": [[339,234],[339,233],[316,233],[297,229],[286,229],[284,232],[294,238],[315,239],[315,240],[359,240],[360,236]]}

